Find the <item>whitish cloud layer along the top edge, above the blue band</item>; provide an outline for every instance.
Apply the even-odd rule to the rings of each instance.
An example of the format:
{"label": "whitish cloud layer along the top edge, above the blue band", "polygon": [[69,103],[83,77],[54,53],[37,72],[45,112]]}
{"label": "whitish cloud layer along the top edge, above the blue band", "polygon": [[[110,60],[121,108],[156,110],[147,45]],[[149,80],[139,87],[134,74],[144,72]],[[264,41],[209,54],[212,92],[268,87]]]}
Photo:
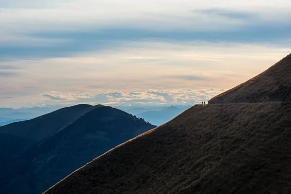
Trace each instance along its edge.
{"label": "whitish cloud layer along the top edge, above the blue band", "polygon": [[[246,24],[286,23],[291,16],[289,0],[0,0],[0,5],[1,32],[15,41],[33,39],[30,34],[34,32],[107,28],[227,31]],[[211,8],[255,13],[257,17],[245,19],[200,12]]]}

